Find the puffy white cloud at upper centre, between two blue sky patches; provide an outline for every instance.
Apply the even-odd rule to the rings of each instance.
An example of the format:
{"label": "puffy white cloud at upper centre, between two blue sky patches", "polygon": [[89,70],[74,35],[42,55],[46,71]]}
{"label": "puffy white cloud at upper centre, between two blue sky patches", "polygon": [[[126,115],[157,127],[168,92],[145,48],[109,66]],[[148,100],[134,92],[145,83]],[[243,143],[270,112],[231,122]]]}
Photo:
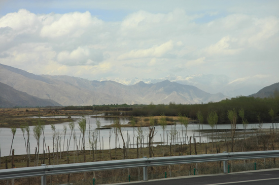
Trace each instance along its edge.
{"label": "puffy white cloud at upper centre, between two blue sky patches", "polygon": [[[168,13],[137,11],[124,18],[119,34],[133,40],[162,41],[176,38],[195,26],[195,16],[188,16],[184,10],[175,9]],[[184,33],[183,33],[184,32]],[[173,39],[175,40],[175,39]]]}

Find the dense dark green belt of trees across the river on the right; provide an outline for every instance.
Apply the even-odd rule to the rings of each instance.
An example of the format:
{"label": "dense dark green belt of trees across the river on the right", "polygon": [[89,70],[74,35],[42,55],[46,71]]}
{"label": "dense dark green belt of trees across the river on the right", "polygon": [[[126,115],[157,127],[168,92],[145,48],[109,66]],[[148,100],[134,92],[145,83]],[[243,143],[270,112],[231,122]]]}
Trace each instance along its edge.
{"label": "dense dark green belt of trees across the river on the right", "polygon": [[[191,119],[198,119],[197,115],[206,117],[211,111],[215,111],[218,114],[218,122],[220,124],[230,123],[230,119],[227,117],[227,112],[231,109],[242,109],[246,113],[246,120],[250,123],[257,123],[258,117],[263,122],[273,122],[279,113],[279,96],[275,98],[254,98],[254,97],[237,97],[232,99],[226,99],[216,103],[207,104],[193,104],[182,105],[169,103],[169,105],[141,105],[141,107],[133,108],[132,111],[122,113],[126,116],[159,116],[162,113],[165,116],[178,116],[178,113],[187,115]],[[274,111],[274,117],[271,118],[269,110]],[[107,115],[120,115],[120,112],[112,111]],[[205,119],[205,123],[208,121]],[[242,119],[239,116],[236,119],[236,123],[242,123]]]}

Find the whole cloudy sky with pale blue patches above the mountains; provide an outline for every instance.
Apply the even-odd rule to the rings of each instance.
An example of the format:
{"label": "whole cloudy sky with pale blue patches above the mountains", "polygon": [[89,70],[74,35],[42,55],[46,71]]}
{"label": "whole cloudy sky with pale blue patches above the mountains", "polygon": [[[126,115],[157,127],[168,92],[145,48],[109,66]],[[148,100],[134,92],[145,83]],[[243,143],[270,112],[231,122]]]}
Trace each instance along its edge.
{"label": "whole cloudy sky with pale blue patches above the mountains", "polygon": [[279,1],[0,0],[0,63],[102,78],[279,82]]}

